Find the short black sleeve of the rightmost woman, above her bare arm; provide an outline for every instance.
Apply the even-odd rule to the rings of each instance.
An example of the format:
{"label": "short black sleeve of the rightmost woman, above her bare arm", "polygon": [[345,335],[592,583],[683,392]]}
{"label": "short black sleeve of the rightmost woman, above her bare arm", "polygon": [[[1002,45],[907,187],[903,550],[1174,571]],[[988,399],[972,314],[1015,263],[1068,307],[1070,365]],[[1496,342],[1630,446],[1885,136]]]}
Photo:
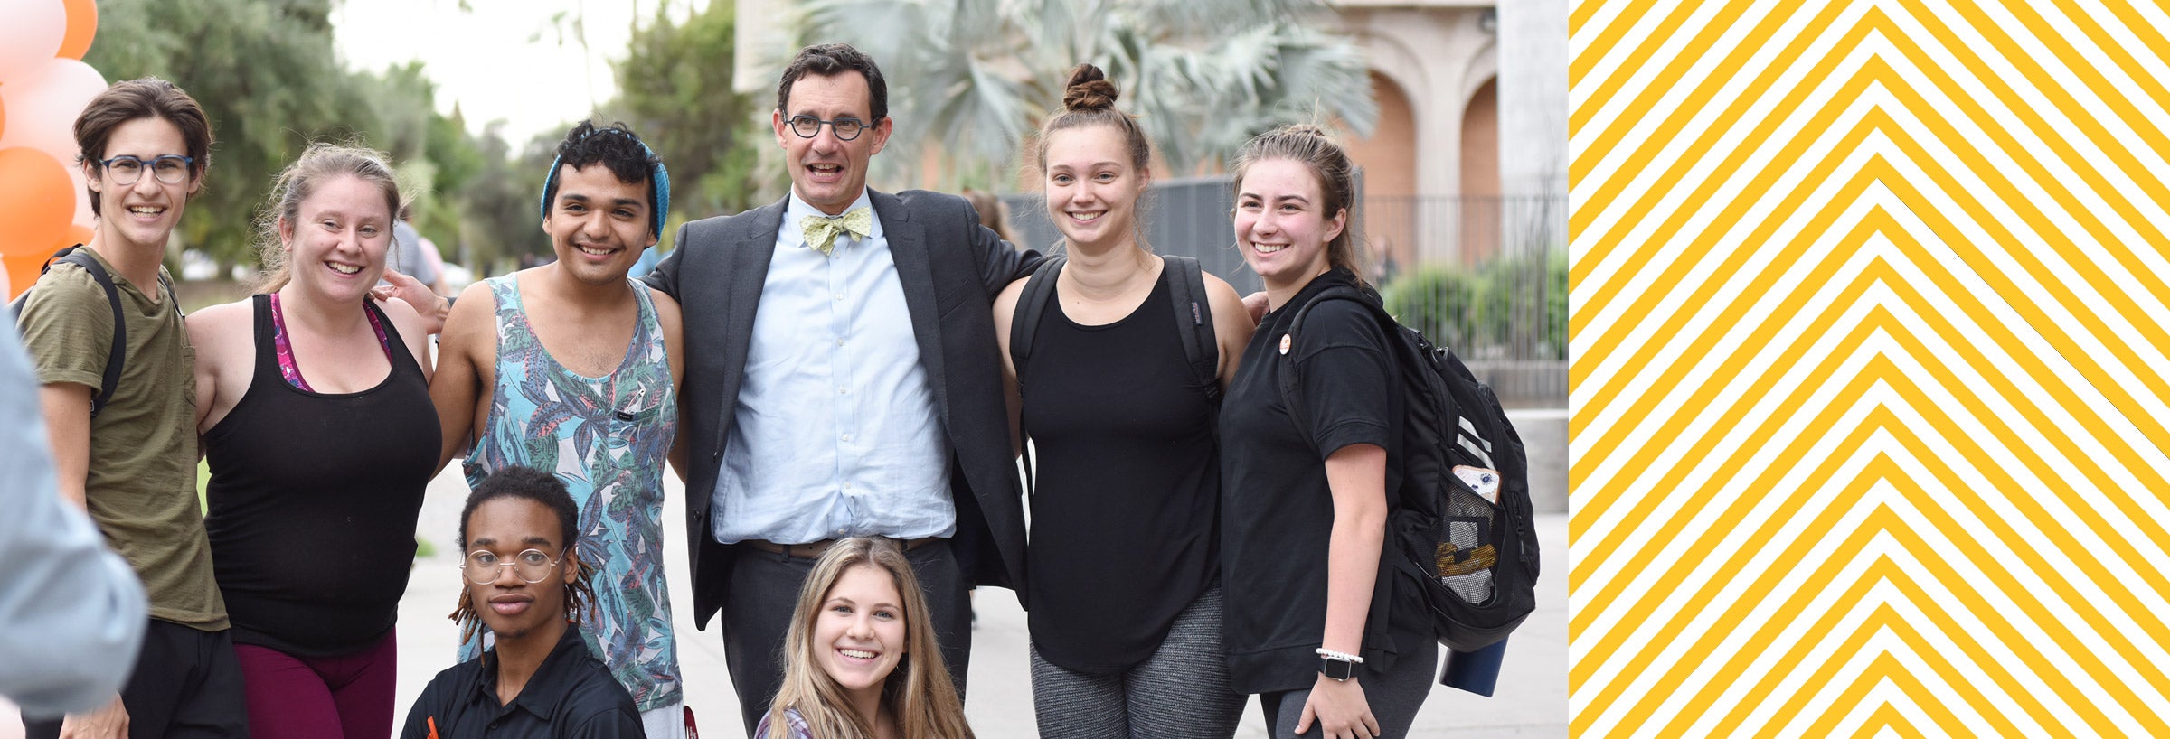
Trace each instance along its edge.
{"label": "short black sleeve of the rightmost woman, above her bare arm", "polygon": [[1387,332],[1363,306],[1324,301],[1304,316],[1293,347],[1298,366],[1295,403],[1309,420],[1319,459],[1350,444],[1389,449],[1395,418],[1393,375]]}

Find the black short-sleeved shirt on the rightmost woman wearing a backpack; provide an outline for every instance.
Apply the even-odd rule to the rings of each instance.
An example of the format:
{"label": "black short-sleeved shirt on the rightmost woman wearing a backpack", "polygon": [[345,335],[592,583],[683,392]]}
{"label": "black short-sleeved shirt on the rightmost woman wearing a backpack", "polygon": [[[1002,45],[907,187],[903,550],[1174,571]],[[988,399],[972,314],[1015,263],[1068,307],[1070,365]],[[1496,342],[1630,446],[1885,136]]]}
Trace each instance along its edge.
{"label": "black short-sleeved shirt on the rightmost woman wearing a backpack", "polygon": [[[1322,290],[1354,284],[1350,271],[1328,271],[1265,314],[1222,401],[1222,641],[1228,685],[1239,693],[1317,680],[1335,527],[1326,457],[1350,444],[1384,449],[1387,505],[1400,501],[1402,379],[1387,332],[1363,306],[1330,301],[1282,342],[1295,312]],[[1289,364],[1300,366],[1295,403],[1304,427],[1280,397]],[[1397,576],[1389,557],[1391,540],[1371,583],[1358,674],[1384,672],[1395,654],[1430,639],[1415,583]]]}

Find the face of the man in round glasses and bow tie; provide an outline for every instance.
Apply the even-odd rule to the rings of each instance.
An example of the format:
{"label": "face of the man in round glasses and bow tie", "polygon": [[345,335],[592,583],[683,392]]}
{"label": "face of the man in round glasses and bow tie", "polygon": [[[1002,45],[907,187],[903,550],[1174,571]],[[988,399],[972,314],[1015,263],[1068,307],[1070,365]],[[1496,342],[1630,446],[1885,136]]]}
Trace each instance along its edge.
{"label": "face of the man in round glasses and bow tie", "polygon": [[[890,119],[875,121],[872,93],[857,72],[803,76],[792,82],[786,100],[790,111],[770,113],[770,126],[777,130],[777,145],[783,147],[783,165],[792,173],[792,193],[820,212],[842,215],[866,191],[866,165],[890,141]],[[825,124],[814,139],[805,139],[790,126],[799,115],[825,121],[853,117],[868,128],[857,139],[844,141]]]}

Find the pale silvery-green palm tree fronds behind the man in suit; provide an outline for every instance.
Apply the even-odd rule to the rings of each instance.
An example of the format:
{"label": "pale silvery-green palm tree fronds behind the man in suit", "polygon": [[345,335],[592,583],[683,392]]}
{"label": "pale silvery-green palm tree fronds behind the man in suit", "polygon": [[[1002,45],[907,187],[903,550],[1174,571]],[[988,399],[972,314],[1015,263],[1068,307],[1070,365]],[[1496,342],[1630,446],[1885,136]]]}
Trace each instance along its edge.
{"label": "pale silvery-green palm tree fronds behind the man in suit", "polygon": [[890,80],[903,156],[940,145],[950,184],[1000,182],[1020,143],[1061,104],[1083,61],[1122,87],[1170,173],[1224,160],[1252,134],[1378,119],[1365,59],[1306,24],[1319,0],[805,0],[801,43],[846,41]]}

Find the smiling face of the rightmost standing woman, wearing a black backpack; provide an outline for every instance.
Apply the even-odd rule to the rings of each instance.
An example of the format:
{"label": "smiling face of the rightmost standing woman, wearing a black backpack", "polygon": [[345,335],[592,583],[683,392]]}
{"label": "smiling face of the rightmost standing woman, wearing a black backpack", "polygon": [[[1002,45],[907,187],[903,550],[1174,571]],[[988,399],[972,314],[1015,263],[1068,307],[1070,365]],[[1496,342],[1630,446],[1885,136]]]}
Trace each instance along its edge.
{"label": "smiling face of the rightmost standing woman, wearing a black backpack", "polygon": [[1252,163],[1237,184],[1235,241],[1267,293],[1300,288],[1332,264],[1326,243],[1341,234],[1348,210],[1324,212],[1319,178],[1293,158]]}

